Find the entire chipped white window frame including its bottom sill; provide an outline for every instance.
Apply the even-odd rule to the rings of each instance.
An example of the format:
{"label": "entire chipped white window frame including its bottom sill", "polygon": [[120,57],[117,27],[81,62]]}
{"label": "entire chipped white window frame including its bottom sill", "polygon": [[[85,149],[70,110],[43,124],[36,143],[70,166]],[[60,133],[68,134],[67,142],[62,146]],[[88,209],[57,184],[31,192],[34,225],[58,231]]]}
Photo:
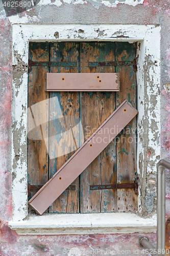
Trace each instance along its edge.
{"label": "entire chipped white window frame including its bottom sill", "polygon": [[[77,31],[84,30],[81,36]],[[59,33],[56,39],[55,32]],[[104,33],[100,33],[104,31]],[[137,172],[143,177],[144,172],[156,172],[156,164],[160,156],[160,136],[157,142],[153,139],[152,121],[156,122],[160,135],[160,26],[155,25],[35,25],[13,24],[13,65],[18,61],[28,67],[30,41],[128,41],[138,42],[137,49]],[[19,57],[18,57],[19,56]],[[20,59],[20,60],[18,60]],[[27,190],[27,108],[28,108],[28,69],[21,74],[19,85],[13,78],[12,123],[15,130],[20,131],[18,138],[12,132],[12,182],[13,218],[9,226],[22,234],[62,234],[62,233],[133,233],[155,232],[156,219],[144,220],[133,214],[46,214],[28,216]],[[18,79],[17,79],[18,82]],[[148,101],[145,103],[145,95]],[[151,113],[152,95],[156,95],[157,103]],[[144,159],[145,148],[142,136],[146,132],[143,119],[147,118],[149,134],[148,145],[155,150],[147,170],[140,165]],[[20,141],[19,159],[16,161],[15,141]],[[138,211],[141,211],[140,186]],[[76,215],[76,216],[75,216]],[[108,217],[106,218],[106,215]],[[53,216],[53,217],[52,217]],[[63,218],[63,219],[62,219]],[[118,218],[118,223],[115,219]],[[136,218],[138,218],[136,220]],[[61,221],[59,221],[61,219]],[[86,221],[85,221],[86,219]],[[126,220],[129,220],[128,222]],[[76,221],[74,221],[76,220]],[[98,221],[96,221],[98,220]],[[77,224],[76,224],[77,223]],[[101,224],[103,223],[103,224]],[[128,223],[128,224],[127,224]],[[127,226],[128,225],[128,226]],[[134,228],[136,227],[136,228]],[[72,231],[70,231],[72,230]]]}

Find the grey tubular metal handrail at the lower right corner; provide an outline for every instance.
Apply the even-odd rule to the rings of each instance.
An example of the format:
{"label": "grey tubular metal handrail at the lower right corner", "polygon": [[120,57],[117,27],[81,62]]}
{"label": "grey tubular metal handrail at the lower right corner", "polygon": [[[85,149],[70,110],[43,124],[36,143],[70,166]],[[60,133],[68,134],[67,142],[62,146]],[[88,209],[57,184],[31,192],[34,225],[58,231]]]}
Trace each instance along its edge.
{"label": "grey tubular metal handrail at the lower right corner", "polygon": [[[170,162],[162,159],[157,164],[157,255],[165,255],[165,169],[170,170]],[[141,237],[140,244],[150,251],[155,247],[148,238]],[[155,255],[156,253],[150,253]]]}

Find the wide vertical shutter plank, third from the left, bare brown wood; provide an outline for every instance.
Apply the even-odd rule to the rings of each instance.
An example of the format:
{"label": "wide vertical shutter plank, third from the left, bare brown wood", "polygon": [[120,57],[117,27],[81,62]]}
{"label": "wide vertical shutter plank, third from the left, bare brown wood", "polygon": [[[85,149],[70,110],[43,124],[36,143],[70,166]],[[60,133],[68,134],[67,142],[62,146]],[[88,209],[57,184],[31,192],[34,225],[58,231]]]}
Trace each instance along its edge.
{"label": "wide vertical shutter plank, third from the left, bare brown wood", "polygon": [[[80,44],[81,72],[114,72],[114,67],[88,67],[88,62],[113,61],[114,42]],[[80,112],[85,140],[115,109],[114,92],[81,92]],[[81,212],[116,211],[115,190],[90,190],[90,185],[116,183],[114,140],[80,176]]]}

